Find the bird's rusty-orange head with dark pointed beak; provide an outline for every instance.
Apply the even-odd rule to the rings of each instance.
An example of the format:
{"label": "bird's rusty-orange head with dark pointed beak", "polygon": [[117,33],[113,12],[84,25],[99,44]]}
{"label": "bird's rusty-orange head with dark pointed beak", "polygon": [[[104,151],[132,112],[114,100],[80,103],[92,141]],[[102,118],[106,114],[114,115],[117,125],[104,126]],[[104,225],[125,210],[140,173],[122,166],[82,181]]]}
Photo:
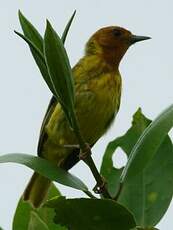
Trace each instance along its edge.
{"label": "bird's rusty-orange head with dark pointed beak", "polygon": [[108,64],[119,65],[131,45],[147,39],[150,37],[133,35],[122,27],[109,26],[93,34],[86,45],[86,53],[98,54]]}

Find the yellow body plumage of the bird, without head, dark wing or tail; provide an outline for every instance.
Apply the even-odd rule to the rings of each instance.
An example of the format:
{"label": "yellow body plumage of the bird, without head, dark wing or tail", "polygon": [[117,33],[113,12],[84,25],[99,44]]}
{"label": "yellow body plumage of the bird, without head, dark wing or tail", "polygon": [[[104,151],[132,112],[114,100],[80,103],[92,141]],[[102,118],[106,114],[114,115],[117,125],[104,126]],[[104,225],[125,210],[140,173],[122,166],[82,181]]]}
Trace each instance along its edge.
{"label": "yellow body plumage of the bird, without head, dark wing or tail", "polygon": [[[92,145],[104,134],[118,111],[121,77],[118,72],[107,71],[103,73],[98,60],[96,60],[98,62],[97,68],[101,71],[100,73],[95,71],[91,76],[90,71],[92,71],[93,63],[89,65],[88,59],[90,57],[82,59],[74,67],[73,74],[75,77],[77,118],[85,140]],[[64,148],[64,145],[77,144],[60,104],[56,105],[45,131],[48,139],[43,145],[42,154],[45,158],[53,159],[60,164],[71,151]]]}

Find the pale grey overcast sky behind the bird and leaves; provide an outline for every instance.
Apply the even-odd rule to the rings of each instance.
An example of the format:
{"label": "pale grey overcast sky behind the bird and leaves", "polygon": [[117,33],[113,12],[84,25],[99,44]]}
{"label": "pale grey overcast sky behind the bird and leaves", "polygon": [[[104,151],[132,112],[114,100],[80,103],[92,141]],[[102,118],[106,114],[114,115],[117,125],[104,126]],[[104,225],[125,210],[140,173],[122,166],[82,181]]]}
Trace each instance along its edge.
{"label": "pale grey overcast sky behind the bird and leaves", "polygon": [[[173,101],[173,2],[171,0],[0,0],[0,153],[36,154],[40,125],[50,99],[30,51],[13,30],[19,30],[18,9],[44,32],[48,18],[58,33],[74,9],[77,15],[66,48],[73,66],[83,55],[84,44],[97,29],[120,25],[138,35],[153,39],[136,44],[123,59],[121,109],[111,130],[97,143],[94,158],[101,162],[106,144],[122,135],[131,116],[140,106],[149,118],[155,118]],[[94,186],[88,169],[80,163],[72,172]],[[0,226],[11,230],[17,201],[32,171],[15,165],[0,165]],[[90,182],[88,182],[90,180]],[[59,186],[69,197],[79,196],[73,189]],[[172,230],[173,205],[158,227]]]}

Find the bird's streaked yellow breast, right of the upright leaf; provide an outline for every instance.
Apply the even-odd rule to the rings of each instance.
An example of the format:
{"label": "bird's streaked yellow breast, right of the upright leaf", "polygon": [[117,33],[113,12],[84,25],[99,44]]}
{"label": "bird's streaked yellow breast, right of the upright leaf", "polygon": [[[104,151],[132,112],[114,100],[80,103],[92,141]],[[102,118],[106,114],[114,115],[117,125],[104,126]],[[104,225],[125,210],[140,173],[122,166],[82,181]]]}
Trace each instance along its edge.
{"label": "bird's streaked yellow breast, right of the upright leaf", "polygon": [[119,109],[120,96],[119,73],[103,73],[83,85],[76,109],[81,130],[89,143],[97,141],[112,123]]}

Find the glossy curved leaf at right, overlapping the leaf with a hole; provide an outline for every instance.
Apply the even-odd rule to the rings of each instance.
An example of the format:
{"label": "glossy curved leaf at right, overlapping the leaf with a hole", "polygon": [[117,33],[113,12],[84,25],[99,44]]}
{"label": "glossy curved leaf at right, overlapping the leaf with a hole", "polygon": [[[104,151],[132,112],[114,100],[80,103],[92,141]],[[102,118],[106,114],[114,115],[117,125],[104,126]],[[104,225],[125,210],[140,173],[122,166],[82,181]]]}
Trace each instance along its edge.
{"label": "glossy curved leaf at right, overlapping the leaf with a hole", "polygon": [[142,133],[133,147],[120,181],[141,172],[156,154],[159,146],[173,126],[173,105],[163,111]]}

